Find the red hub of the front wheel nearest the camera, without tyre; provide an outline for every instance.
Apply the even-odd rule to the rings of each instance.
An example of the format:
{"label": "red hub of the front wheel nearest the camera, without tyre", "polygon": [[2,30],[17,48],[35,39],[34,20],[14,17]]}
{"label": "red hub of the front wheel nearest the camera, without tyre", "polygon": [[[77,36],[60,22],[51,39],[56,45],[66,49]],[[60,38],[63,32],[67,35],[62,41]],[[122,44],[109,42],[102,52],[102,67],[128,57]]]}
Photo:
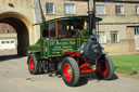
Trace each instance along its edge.
{"label": "red hub of the front wheel nearest the camera, without tyre", "polygon": [[73,78],[72,67],[67,63],[63,67],[63,75],[67,81],[71,81],[71,79]]}

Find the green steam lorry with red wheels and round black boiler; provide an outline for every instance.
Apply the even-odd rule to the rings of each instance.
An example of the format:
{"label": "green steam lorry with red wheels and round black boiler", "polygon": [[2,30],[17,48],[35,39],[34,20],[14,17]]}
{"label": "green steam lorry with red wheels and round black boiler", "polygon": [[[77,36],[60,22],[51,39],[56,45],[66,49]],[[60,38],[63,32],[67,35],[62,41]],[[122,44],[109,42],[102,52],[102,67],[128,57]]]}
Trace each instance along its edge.
{"label": "green steam lorry with red wheels and round black boiler", "polygon": [[[90,14],[89,19],[92,19]],[[40,39],[28,48],[28,70],[31,75],[59,73],[65,84],[77,86],[81,75],[94,73],[100,79],[111,79],[112,60],[97,41],[88,16],[71,16],[41,24]],[[96,22],[101,18],[96,17]],[[92,29],[92,32],[89,31]]]}

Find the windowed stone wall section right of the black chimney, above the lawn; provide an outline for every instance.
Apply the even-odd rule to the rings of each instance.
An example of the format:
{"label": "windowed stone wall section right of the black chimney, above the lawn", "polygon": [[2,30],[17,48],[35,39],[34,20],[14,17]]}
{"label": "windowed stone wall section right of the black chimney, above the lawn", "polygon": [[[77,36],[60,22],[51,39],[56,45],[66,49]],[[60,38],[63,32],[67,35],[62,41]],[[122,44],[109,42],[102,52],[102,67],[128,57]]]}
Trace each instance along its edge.
{"label": "windowed stone wall section right of the black chimney, above the lawn", "polygon": [[108,52],[128,53],[139,50],[139,0],[98,2],[97,11],[97,15],[103,18],[100,35]]}

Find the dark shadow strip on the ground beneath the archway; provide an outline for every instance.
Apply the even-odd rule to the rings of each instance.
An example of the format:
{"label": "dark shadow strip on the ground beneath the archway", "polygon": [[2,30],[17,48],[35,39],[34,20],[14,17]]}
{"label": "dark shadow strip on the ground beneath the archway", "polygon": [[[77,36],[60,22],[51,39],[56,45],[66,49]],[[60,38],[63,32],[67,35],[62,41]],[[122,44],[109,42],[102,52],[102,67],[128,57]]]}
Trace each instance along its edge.
{"label": "dark shadow strip on the ground beneath the archway", "polygon": [[11,55],[0,55],[0,62],[4,62],[8,60],[14,60],[14,58],[20,58],[20,57],[24,57],[17,54],[11,54]]}

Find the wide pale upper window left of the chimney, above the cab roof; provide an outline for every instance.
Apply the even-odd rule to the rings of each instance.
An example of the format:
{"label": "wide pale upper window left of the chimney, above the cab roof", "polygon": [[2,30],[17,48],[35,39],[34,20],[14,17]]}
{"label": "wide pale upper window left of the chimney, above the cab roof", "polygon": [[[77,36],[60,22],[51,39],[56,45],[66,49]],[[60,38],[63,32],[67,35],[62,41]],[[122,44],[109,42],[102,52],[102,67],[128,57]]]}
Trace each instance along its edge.
{"label": "wide pale upper window left of the chimney, above the cab roof", "polygon": [[75,14],[75,4],[74,3],[65,3],[64,12],[65,12],[65,14]]}

